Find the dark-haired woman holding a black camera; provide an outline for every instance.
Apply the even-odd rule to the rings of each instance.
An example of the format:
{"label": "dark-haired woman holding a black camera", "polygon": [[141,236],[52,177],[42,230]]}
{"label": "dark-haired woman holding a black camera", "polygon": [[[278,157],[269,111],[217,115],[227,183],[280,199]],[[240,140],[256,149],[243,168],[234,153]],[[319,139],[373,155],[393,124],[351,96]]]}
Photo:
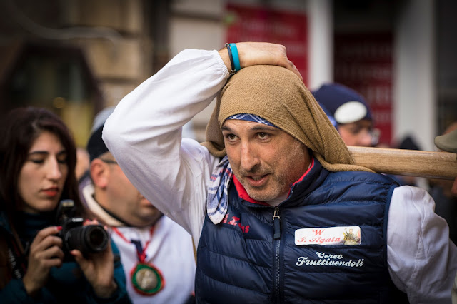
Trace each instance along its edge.
{"label": "dark-haired woman holding a black camera", "polygon": [[84,213],[76,148],[64,122],[29,107],[14,109],[0,124],[1,302],[130,303],[110,241],[99,253],[71,250],[74,261],[64,254],[59,201],[73,200]]}

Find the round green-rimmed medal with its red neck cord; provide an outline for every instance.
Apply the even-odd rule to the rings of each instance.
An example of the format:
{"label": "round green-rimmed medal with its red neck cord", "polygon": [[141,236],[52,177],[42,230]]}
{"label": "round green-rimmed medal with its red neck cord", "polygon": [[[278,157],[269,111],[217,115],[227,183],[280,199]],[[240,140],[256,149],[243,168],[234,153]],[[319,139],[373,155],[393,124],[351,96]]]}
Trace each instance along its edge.
{"label": "round green-rimmed medal with its red neck cord", "polygon": [[155,295],[164,288],[165,280],[161,271],[152,263],[146,262],[146,250],[152,241],[155,226],[149,230],[149,240],[146,241],[144,248],[141,248],[140,240],[128,240],[116,227],[112,227],[114,233],[126,243],[135,245],[138,262],[130,270],[131,283],[136,293],[141,295]]}

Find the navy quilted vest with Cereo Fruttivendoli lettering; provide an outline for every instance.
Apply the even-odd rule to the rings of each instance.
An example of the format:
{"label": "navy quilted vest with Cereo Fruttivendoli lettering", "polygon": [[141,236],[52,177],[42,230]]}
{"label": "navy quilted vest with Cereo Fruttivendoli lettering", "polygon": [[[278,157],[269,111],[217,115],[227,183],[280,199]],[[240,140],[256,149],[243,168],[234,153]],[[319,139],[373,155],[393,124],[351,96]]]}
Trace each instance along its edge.
{"label": "navy quilted vest with Cereo Fruttivendoli lettering", "polygon": [[[396,186],[376,173],[331,173],[316,159],[276,208],[242,200],[232,182],[224,221],[205,218],[197,303],[407,303],[387,268]],[[337,226],[359,226],[360,245],[295,243],[298,229]]]}

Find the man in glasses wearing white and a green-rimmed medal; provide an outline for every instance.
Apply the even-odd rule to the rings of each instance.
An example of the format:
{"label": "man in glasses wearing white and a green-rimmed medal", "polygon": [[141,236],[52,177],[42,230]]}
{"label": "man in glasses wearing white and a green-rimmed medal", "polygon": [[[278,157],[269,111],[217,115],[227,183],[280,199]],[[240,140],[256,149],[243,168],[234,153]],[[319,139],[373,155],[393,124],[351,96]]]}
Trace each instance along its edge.
{"label": "man in glasses wearing white and a green-rimmed medal", "polygon": [[141,195],[106,148],[101,131],[113,110],[94,121],[87,144],[90,178],[81,182],[81,197],[112,230],[132,303],[189,303],[196,268],[191,235]]}

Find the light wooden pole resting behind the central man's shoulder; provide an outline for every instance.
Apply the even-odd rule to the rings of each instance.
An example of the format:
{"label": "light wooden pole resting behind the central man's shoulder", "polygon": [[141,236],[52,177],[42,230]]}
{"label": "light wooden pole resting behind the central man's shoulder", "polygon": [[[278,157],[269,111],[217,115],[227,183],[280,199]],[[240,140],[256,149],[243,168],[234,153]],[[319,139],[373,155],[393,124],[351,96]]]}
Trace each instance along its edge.
{"label": "light wooden pole resting behind the central man's shoulder", "polygon": [[457,177],[457,154],[389,148],[348,146],[357,165],[378,173],[440,178]]}

